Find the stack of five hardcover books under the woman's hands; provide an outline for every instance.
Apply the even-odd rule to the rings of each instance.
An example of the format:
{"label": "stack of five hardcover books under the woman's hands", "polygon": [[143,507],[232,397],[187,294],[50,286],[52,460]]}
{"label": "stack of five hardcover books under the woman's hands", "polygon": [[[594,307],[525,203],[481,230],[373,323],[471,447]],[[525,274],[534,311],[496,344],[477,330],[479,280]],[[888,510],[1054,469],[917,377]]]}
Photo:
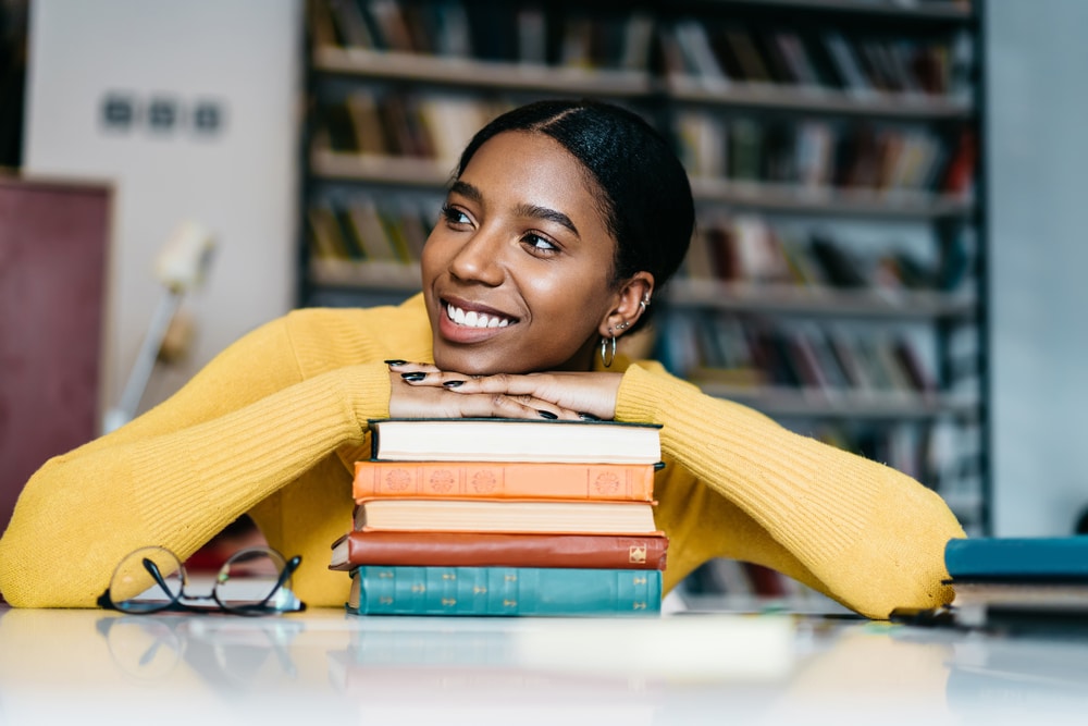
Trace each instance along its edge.
{"label": "stack of five hardcover books under the woman's hands", "polygon": [[660,612],[658,427],[380,419],[330,567],[360,615]]}

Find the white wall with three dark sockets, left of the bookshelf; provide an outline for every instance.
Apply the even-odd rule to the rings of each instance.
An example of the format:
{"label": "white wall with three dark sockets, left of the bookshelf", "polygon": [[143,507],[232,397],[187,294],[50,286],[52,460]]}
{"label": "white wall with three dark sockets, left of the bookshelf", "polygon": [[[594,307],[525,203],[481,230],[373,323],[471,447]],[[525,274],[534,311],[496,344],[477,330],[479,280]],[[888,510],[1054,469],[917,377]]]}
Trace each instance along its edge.
{"label": "white wall with three dark sockets, left of the bookshelf", "polygon": [[[147,408],[294,298],[299,0],[35,0],[30,5],[24,172],[115,184],[112,297],[103,403],[114,405],[162,287],[153,261],[193,219],[219,247],[189,295],[188,359],[159,370]],[[109,94],[133,101],[129,126],[103,122]],[[177,123],[156,131],[166,99]],[[199,132],[201,102],[222,111]]]}

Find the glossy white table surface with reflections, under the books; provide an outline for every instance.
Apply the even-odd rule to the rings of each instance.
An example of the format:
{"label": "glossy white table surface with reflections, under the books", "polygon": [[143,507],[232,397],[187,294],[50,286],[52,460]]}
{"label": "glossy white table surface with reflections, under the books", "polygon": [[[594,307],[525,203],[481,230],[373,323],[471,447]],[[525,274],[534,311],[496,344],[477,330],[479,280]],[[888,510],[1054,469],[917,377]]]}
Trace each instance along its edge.
{"label": "glossy white table surface with reflections, under the books", "polygon": [[814,615],[0,607],[0,725],[1088,723],[1088,640]]}

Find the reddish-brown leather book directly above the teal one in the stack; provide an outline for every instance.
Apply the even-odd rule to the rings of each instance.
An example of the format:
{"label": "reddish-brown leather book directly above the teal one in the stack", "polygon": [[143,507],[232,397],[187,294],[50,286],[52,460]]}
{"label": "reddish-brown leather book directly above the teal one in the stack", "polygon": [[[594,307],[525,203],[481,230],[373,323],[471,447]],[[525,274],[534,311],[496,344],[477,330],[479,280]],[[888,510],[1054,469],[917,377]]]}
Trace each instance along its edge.
{"label": "reddish-brown leather book directly above the teal one in the stack", "polygon": [[496,532],[362,532],[333,543],[330,569],[360,565],[665,569],[669,541],[646,536]]}

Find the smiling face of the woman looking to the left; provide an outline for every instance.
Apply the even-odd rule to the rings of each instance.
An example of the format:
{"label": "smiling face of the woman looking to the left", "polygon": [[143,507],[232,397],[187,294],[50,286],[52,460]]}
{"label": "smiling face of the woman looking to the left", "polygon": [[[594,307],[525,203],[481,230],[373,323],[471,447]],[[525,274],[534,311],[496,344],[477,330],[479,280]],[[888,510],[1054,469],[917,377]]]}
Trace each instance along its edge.
{"label": "smiling face of the woman looking to the left", "polygon": [[470,374],[586,370],[617,304],[616,241],[556,140],[505,132],[454,183],[423,249],[434,361]]}

